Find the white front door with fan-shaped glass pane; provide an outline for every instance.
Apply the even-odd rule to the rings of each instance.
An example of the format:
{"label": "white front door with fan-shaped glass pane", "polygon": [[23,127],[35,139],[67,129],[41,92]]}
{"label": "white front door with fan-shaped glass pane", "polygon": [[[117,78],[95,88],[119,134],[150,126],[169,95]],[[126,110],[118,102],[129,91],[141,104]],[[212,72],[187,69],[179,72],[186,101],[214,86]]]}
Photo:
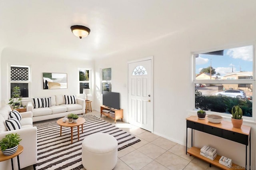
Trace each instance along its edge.
{"label": "white front door with fan-shaped glass pane", "polygon": [[129,123],[152,131],[152,59],[128,64]]}

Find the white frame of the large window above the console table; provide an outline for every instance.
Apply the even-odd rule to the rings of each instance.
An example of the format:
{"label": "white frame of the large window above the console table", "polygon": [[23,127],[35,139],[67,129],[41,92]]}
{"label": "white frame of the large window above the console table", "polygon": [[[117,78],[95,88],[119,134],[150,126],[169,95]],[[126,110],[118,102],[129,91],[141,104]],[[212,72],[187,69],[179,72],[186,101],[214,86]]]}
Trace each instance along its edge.
{"label": "white frame of the large window above the console table", "polygon": [[[203,80],[203,79],[196,79],[196,55],[201,54],[201,53],[208,53],[211,51],[219,51],[219,50],[225,50],[225,49],[232,49],[232,48],[238,48],[238,47],[244,47],[244,46],[249,46],[252,45],[252,52],[253,52],[253,59],[252,59],[252,73],[253,77],[251,79],[209,79],[209,80]],[[204,51],[194,51],[191,53],[191,63],[192,63],[192,75],[191,75],[191,101],[192,101],[192,110],[197,111],[198,109],[195,108],[195,84],[252,84],[252,89],[256,88],[256,82],[255,82],[255,77],[256,77],[256,52],[255,52],[255,47],[256,43],[251,42],[251,43],[245,43],[245,44],[240,44],[240,45],[233,45],[233,46],[226,46],[223,48],[218,48],[218,49],[208,49]],[[252,93],[252,99],[256,99],[256,91],[253,91]],[[255,101],[256,102],[256,101]],[[256,107],[254,107],[255,104],[252,103],[252,113],[255,113]],[[220,113],[220,112],[214,112],[214,111],[206,111],[206,114],[216,114],[216,115],[221,115],[224,118],[230,118],[232,115],[226,114],[226,113]],[[243,117],[244,120],[247,121],[253,121],[256,122],[256,113],[252,114],[252,117]]]}

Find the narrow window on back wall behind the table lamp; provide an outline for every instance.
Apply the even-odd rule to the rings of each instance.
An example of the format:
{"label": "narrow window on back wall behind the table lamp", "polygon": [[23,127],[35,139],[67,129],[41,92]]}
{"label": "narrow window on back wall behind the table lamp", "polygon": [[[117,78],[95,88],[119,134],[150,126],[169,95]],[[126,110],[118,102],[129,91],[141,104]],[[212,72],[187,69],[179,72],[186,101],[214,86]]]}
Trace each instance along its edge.
{"label": "narrow window on back wall behind the table lamp", "polygon": [[79,69],[79,93],[83,93],[83,89],[90,89],[90,70]]}

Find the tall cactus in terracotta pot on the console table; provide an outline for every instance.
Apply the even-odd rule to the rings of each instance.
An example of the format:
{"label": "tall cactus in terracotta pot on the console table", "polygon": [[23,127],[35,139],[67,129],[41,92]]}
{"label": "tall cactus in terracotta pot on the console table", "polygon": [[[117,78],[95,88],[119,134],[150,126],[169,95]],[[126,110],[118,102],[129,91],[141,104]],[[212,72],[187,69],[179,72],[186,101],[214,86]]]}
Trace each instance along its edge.
{"label": "tall cactus in terracotta pot on the console table", "polygon": [[233,124],[233,127],[235,128],[241,128],[243,124],[243,111],[239,106],[233,106],[231,109],[231,122]]}

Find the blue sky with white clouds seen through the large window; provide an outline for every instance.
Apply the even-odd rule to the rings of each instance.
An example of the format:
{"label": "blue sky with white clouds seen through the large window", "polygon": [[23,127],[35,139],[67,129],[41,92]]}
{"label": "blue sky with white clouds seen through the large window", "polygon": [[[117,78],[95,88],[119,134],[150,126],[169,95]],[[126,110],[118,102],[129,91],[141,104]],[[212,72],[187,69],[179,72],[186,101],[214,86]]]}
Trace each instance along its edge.
{"label": "blue sky with white clouds seen through the large window", "polygon": [[252,71],[253,63],[253,45],[238,47],[232,49],[225,49],[224,55],[204,55],[199,54],[196,57],[196,74],[200,73],[202,68],[212,67],[216,73],[221,76],[227,73],[239,71]]}

